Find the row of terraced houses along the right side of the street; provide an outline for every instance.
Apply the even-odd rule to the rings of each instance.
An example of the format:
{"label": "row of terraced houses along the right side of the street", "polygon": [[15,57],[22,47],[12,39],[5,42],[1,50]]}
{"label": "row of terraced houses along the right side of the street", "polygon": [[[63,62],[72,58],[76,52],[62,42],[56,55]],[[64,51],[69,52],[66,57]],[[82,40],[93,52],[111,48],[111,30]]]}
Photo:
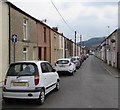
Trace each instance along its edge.
{"label": "row of terraced houses along the right side of the street", "polygon": [[120,69],[120,28],[105,38],[96,48],[95,55],[108,65]]}

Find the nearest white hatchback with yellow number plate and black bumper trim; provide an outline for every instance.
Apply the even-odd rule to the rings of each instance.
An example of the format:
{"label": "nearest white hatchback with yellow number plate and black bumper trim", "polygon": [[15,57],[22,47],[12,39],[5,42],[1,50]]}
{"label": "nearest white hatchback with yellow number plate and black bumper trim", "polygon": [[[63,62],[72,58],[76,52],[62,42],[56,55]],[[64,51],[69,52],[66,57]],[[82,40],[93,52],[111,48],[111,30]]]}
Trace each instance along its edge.
{"label": "nearest white hatchback with yellow number plate and black bumper trim", "polygon": [[53,89],[59,90],[59,75],[47,61],[21,61],[10,65],[3,86],[3,99],[36,99],[39,104]]}

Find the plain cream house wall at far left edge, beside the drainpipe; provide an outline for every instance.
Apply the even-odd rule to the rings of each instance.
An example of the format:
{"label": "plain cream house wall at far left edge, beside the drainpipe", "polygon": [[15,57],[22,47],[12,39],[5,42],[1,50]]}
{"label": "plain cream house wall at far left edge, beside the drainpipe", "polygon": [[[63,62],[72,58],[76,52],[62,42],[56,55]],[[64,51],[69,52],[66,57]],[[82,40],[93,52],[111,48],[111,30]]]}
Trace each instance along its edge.
{"label": "plain cream house wall at far left edge, beside the drainpipe", "polygon": [[0,2],[0,85],[8,69],[9,10],[6,3]]}

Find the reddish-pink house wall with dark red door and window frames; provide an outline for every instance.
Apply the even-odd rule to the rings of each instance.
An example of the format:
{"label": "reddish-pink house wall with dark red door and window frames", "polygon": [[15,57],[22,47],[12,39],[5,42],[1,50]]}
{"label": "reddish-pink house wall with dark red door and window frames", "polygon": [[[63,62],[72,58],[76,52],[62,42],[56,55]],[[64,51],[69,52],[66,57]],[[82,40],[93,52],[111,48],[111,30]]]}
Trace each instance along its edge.
{"label": "reddish-pink house wall with dark red door and window frames", "polygon": [[[44,41],[44,28],[46,29],[46,41]],[[50,38],[50,28],[37,22],[37,30],[38,30],[38,48],[39,50],[38,58],[40,60],[47,60],[51,62],[51,38]],[[46,51],[46,52],[45,52]]]}

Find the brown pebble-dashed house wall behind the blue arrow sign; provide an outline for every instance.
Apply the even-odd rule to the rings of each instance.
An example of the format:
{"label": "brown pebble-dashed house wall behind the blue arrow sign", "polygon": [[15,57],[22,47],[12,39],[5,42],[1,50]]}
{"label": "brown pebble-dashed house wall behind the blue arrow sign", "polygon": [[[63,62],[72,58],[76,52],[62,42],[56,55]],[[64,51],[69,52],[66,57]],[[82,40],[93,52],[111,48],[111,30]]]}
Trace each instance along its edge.
{"label": "brown pebble-dashed house wall behind the blue arrow sign", "polygon": [[[23,33],[23,20],[27,20],[27,40],[24,40]],[[16,42],[16,61],[25,60],[23,55],[23,48],[27,47],[27,59],[26,60],[37,60],[38,49],[37,49],[37,25],[36,21],[26,14],[19,12],[15,8],[10,8],[10,24],[11,24],[11,39],[12,35],[17,35]],[[11,41],[11,62],[14,62],[14,45]],[[34,53],[33,53],[34,52]],[[34,54],[34,55],[33,55]],[[34,58],[33,58],[34,56]]]}

